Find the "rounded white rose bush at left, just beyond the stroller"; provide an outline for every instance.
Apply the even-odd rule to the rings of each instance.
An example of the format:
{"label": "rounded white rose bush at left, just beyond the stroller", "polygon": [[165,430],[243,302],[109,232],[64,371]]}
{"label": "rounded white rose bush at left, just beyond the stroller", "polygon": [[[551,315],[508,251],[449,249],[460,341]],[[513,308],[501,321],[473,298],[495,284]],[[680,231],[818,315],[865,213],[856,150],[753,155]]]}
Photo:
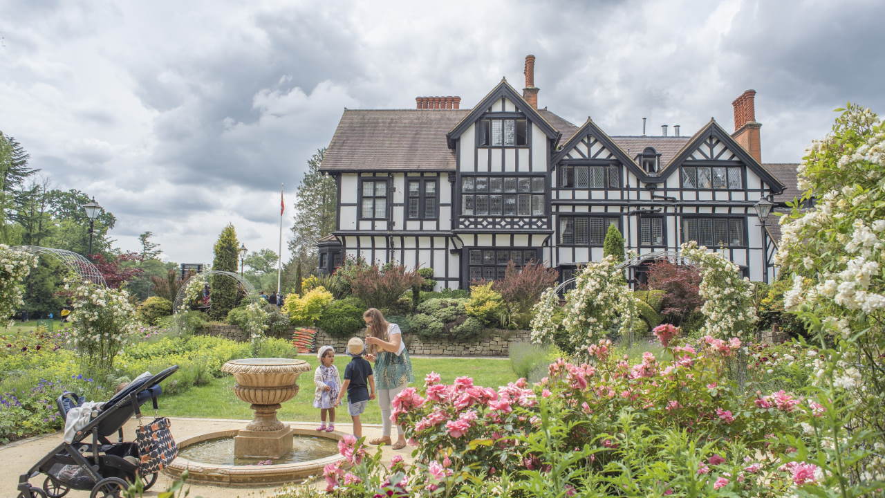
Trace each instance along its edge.
{"label": "rounded white rose bush at left, just beyond the stroller", "polygon": [[73,311],[69,321],[73,346],[86,370],[94,377],[112,372],[114,357],[135,336],[139,323],[129,294],[79,277],[68,277],[65,290],[71,293]]}

